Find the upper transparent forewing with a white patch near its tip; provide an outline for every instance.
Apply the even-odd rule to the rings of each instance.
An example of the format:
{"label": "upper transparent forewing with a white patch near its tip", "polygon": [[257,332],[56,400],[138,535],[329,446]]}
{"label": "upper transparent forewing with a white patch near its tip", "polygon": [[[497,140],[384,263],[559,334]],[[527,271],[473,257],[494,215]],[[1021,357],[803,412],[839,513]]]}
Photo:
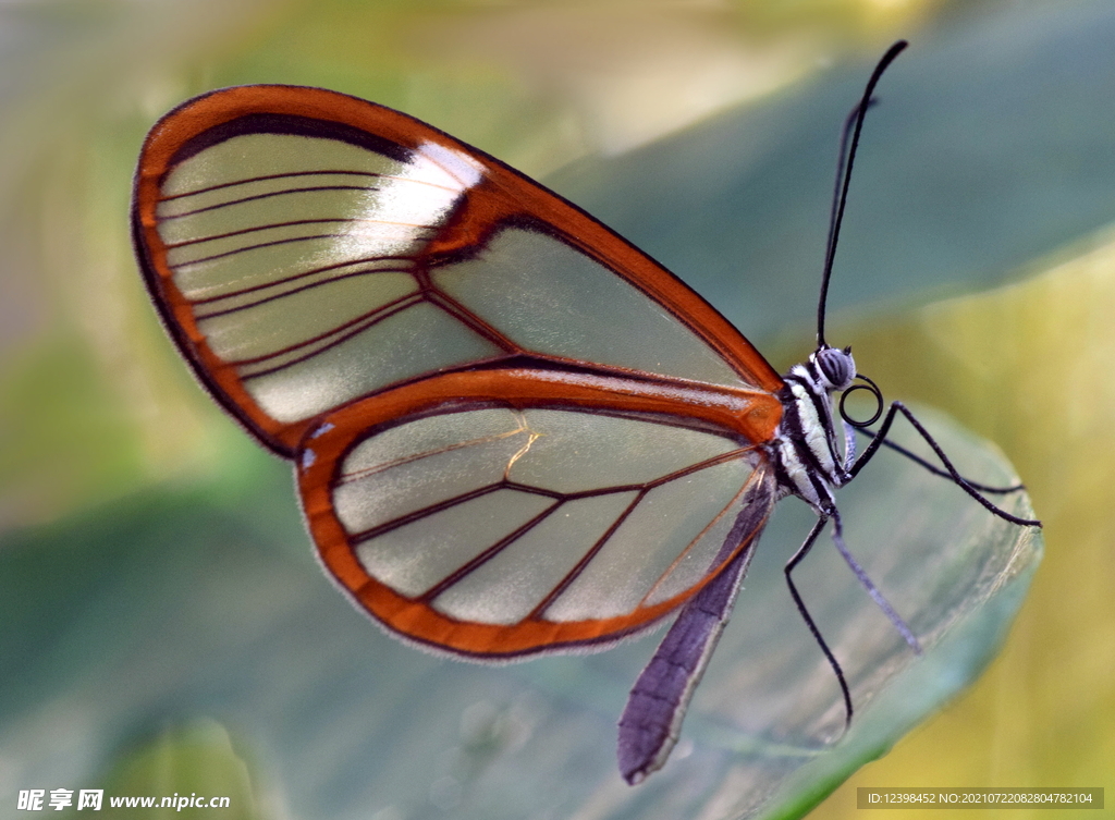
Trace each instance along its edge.
{"label": "upper transparent forewing with a white patch near its tip", "polygon": [[248,86],[140,156],[138,257],[195,372],[268,446],[390,386],[531,361],[777,390],[678,279],[502,163],[397,112]]}

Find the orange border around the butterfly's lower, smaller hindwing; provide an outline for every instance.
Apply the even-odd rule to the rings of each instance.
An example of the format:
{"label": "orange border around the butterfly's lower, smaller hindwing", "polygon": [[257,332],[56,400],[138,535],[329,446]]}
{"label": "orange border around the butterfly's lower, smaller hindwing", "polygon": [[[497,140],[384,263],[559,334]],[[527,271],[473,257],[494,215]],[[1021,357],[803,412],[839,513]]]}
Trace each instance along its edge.
{"label": "orange border around the butterfly's lower, smaller hindwing", "polygon": [[[682,395],[669,384],[592,376],[570,378],[549,370],[524,369],[444,374],[388,389],[323,416],[320,426],[303,441],[298,461],[303,513],[327,575],[358,608],[396,637],[427,649],[494,662],[554,652],[604,649],[653,628],[719,575],[741,550],[749,549],[763,530],[765,515],[700,583],[626,616],[566,623],[529,618],[512,625],[492,625],[443,615],[421,600],[400,595],[363,569],[333,510],[332,491],[345,456],[369,431],[439,409],[493,405],[683,416],[755,445],[769,440],[772,425],[777,424],[782,411],[778,401],[763,390],[687,389]],[[754,452],[758,466],[748,485],[753,481],[773,481],[763,448],[756,446]]]}

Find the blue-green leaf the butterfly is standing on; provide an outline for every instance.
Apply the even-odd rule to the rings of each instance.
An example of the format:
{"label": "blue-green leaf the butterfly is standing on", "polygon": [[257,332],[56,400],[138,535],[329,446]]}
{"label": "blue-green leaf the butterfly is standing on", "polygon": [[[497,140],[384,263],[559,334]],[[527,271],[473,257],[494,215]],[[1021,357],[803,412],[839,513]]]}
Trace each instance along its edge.
{"label": "blue-green leaf the butterfly is standing on", "polygon": [[[1015,480],[992,446],[927,417],[961,470]],[[811,514],[786,500],[681,744],[631,789],[615,769],[614,722],[653,640],[506,667],[416,652],[369,626],[313,567],[285,470],[262,454],[236,461],[232,484],[167,486],[0,544],[0,655],[20,671],[0,683],[0,726],[29,715],[21,783],[79,785],[59,747],[85,750],[88,783],[109,750],[168,715],[212,715],[255,750],[272,797],[298,817],[433,805],[501,820],[601,801],[602,818],[663,807],[793,817],[979,674],[1040,557],[1035,530],[881,453],[840,495],[846,539],[928,650],[915,658],[818,543],[798,581],[857,707],[837,739],[836,682],[782,578]],[[1028,514],[1020,494],[1005,505]]]}

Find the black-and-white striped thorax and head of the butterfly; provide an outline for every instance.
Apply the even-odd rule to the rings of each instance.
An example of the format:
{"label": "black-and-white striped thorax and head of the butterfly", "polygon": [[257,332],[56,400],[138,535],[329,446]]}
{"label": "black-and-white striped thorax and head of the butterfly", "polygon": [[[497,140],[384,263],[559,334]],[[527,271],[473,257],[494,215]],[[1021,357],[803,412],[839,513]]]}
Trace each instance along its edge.
{"label": "black-and-white striped thorax and head of the butterfly", "polygon": [[844,451],[837,444],[833,394],[855,378],[851,349],[821,347],[794,365],[778,392],[782,422],[770,442],[775,474],[784,495],[798,495],[818,512],[834,507],[832,491],[845,484],[854,459],[852,436],[842,423]]}

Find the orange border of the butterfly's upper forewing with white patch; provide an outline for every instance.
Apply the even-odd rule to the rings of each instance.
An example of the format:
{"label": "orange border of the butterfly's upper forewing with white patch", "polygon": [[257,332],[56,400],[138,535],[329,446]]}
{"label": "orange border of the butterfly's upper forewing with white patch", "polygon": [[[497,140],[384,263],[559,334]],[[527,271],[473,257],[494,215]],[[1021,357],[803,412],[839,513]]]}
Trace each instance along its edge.
{"label": "orange border of the butterfly's upper forewing with white patch", "polygon": [[[783,386],[782,378],[750,343],[685,282],[576,205],[495,157],[414,117],[357,97],[300,86],[240,86],[188,100],[151,131],[134,181],[133,240],[159,316],[194,374],[219,404],[275,453],[293,457],[298,442],[307,431],[318,427],[326,414],[287,424],[259,407],[232,367],[206,344],[191,302],[174,283],[156,219],[159,187],[175,164],[206,138],[215,138],[219,132],[214,129],[229,128],[234,120],[252,115],[300,117],[311,131],[317,120],[323,135],[338,127],[355,129],[369,142],[385,144],[388,151],[391,144],[413,151],[433,142],[466,153],[484,166],[484,177],[466,192],[463,208],[423,253],[427,264],[467,252],[500,225],[530,222],[660,303],[719,353],[746,383],[767,393]],[[589,361],[583,365],[593,367]]]}

